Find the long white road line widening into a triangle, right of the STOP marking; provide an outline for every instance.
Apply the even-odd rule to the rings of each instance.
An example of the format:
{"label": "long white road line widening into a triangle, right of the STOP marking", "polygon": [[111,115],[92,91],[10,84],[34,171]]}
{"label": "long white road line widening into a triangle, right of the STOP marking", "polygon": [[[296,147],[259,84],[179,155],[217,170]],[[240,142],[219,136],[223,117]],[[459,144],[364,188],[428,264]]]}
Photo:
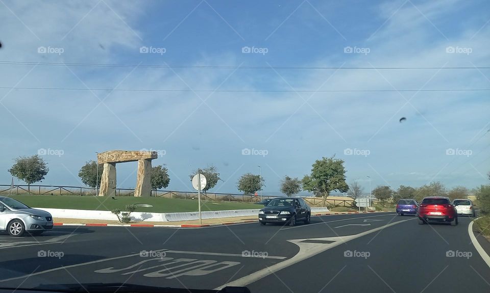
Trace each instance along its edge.
{"label": "long white road line widening into a triangle, right of the STOP marking", "polygon": [[253,282],[256,282],[268,275],[271,275],[273,273],[276,273],[284,268],[287,268],[289,267],[290,265],[293,265],[295,263],[298,263],[302,260],[305,260],[307,258],[310,258],[312,256],[315,256],[319,253],[322,253],[326,250],[329,250],[331,248],[334,248],[338,245],[341,245],[341,244],[344,244],[346,242],[349,242],[351,241],[352,239],[356,239],[356,238],[359,238],[359,237],[362,237],[362,236],[365,236],[367,234],[371,234],[371,233],[374,233],[376,231],[379,231],[381,229],[384,229],[386,227],[391,227],[391,226],[394,226],[394,225],[397,225],[397,224],[400,224],[400,223],[403,223],[403,222],[407,222],[408,220],[402,220],[402,221],[398,221],[398,222],[394,222],[394,223],[390,223],[390,224],[387,224],[387,225],[384,225],[384,226],[381,226],[381,227],[378,227],[378,228],[375,228],[375,229],[372,229],[372,230],[368,230],[368,231],[364,231],[362,233],[359,233],[359,234],[355,234],[355,235],[349,235],[349,236],[337,236],[337,237],[325,237],[325,238],[317,238],[317,239],[324,239],[324,240],[333,240],[332,243],[330,244],[306,244],[305,246],[300,246],[300,244],[304,244],[302,243],[302,241],[304,241],[304,239],[295,239],[295,240],[290,240],[289,242],[292,242],[292,243],[295,243],[297,244],[298,246],[300,246],[300,251],[298,252],[298,254],[296,254],[295,256],[289,258],[289,259],[286,259],[284,261],[281,261],[279,263],[276,263],[276,264],[273,264],[271,265],[271,267],[267,267],[265,269],[262,269],[262,270],[259,270],[257,272],[254,272],[250,275],[247,275],[245,277],[242,277],[242,278],[239,278],[235,281],[231,281],[231,282],[228,282],[224,285],[221,285],[217,288],[214,288],[214,290],[220,290],[220,289],[223,289],[224,287],[226,286],[247,286],[248,284],[250,283],[253,283]]}

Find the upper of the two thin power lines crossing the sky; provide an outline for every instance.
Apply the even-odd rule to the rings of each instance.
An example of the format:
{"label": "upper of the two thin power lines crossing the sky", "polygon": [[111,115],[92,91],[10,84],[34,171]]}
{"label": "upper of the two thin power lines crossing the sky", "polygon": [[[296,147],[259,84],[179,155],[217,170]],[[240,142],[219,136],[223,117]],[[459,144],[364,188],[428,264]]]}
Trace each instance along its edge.
{"label": "upper of the two thin power lines crossing the sky", "polygon": [[185,68],[185,69],[288,69],[288,70],[403,70],[403,69],[490,69],[490,66],[381,66],[381,67],[338,67],[338,66],[220,66],[220,65],[155,65],[155,64],[102,64],[102,63],[62,63],[62,62],[22,62],[2,61],[1,65],[37,65],[37,66],[80,66],[80,67],[141,67],[141,68]]}

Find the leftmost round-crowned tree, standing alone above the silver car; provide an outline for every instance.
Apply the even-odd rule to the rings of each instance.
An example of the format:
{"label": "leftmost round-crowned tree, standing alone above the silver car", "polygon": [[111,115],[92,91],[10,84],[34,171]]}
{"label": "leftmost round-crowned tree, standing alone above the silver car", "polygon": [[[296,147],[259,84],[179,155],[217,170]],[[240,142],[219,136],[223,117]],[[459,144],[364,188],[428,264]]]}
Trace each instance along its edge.
{"label": "leftmost round-crowned tree, standing alone above the silver car", "polygon": [[47,163],[39,155],[19,156],[14,159],[15,164],[9,169],[12,176],[27,183],[28,192],[31,192],[31,184],[41,181],[50,171]]}

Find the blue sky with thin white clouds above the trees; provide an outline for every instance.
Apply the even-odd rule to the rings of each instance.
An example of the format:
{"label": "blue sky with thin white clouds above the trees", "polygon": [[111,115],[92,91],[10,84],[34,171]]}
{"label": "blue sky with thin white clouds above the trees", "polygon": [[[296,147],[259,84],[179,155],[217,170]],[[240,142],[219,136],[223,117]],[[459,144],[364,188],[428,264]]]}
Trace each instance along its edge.
{"label": "blue sky with thin white clouds above the trees", "polygon": [[95,152],[142,149],[177,191],[212,165],[210,192],[261,171],[278,195],[333,155],[365,192],[489,183],[487,1],[2,0],[0,26],[2,184],[18,156],[84,186]]}

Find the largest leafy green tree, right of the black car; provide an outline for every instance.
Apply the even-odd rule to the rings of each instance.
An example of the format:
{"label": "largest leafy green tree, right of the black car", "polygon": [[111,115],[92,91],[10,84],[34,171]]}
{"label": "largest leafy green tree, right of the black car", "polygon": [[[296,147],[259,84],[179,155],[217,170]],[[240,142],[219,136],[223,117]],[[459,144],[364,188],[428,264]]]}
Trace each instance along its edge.
{"label": "largest leafy green tree, right of the black car", "polygon": [[344,160],[335,156],[322,157],[312,165],[311,174],[303,177],[303,190],[313,192],[324,200],[332,191],[347,192],[349,185],[346,182]]}

